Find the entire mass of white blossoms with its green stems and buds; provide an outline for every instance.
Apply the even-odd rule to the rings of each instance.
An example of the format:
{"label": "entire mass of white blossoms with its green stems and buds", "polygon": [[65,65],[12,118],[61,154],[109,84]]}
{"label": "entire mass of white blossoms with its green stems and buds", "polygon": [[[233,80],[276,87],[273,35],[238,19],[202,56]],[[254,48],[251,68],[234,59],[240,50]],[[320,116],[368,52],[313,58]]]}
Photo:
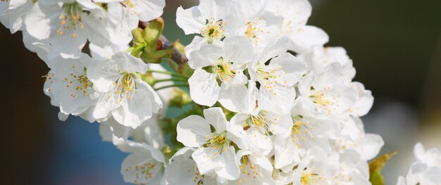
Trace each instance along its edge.
{"label": "entire mass of white blossoms with its green stems and buds", "polygon": [[[50,68],[44,93],[60,120],[99,122],[104,141],[130,153],[127,182],[371,184],[367,160],[383,139],[360,117],[373,96],[352,82],[347,52],[306,25],[309,1],[180,7],[176,22],[196,34],[185,47],[161,35],[164,6],[5,0],[0,20]],[[426,165],[422,175],[433,170],[424,158],[413,165]]]}

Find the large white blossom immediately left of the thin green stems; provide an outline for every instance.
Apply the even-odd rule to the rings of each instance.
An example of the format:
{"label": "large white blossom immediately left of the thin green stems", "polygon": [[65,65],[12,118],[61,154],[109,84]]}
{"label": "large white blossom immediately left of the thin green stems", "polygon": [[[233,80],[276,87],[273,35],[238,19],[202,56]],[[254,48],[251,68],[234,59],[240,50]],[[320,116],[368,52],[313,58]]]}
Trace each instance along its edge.
{"label": "large white blossom immediately left of the thin green stems", "polygon": [[124,52],[94,62],[87,77],[102,95],[93,116],[96,119],[113,116],[121,125],[135,129],[153,113],[158,113],[162,108],[161,99],[137,75],[137,72],[146,72],[148,67],[139,58]]}

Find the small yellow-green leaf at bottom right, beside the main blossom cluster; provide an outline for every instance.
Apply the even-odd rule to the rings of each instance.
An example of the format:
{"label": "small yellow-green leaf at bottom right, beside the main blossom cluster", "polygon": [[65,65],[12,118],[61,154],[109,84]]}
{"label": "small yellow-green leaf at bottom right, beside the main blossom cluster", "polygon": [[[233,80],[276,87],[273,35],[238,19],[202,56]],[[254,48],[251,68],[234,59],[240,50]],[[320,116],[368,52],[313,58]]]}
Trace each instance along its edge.
{"label": "small yellow-green leaf at bottom right, beside the main blossom cluster", "polygon": [[384,185],[385,181],[383,175],[381,175],[381,170],[385,167],[387,160],[389,160],[397,152],[386,153],[378,158],[375,158],[371,163],[369,163],[369,181],[372,185]]}

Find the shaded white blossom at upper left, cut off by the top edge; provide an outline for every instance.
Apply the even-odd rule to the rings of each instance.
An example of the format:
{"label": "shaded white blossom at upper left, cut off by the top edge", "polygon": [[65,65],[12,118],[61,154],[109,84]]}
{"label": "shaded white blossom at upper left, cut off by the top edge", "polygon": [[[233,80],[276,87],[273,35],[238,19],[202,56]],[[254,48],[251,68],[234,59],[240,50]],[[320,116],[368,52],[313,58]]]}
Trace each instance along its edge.
{"label": "shaded white blossom at upper left, cut off by the top edge", "polygon": [[98,46],[110,44],[102,14],[104,9],[89,0],[38,1],[27,13],[25,27],[32,37],[53,46],[50,56],[78,58],[87,40]]}

